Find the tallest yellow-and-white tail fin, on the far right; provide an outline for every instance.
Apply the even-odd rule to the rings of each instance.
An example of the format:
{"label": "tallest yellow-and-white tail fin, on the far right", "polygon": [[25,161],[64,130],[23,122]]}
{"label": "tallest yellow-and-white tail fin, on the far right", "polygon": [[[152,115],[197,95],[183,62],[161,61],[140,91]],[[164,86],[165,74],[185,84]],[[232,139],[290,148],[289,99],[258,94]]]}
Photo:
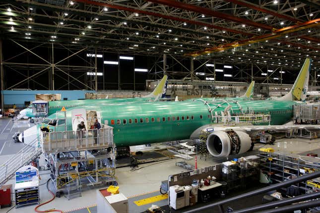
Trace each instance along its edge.
{"label": "tallest yellow-and-white tail fin, on the far right", "polygon": [[294,82],[290,92],[279,98],[281,101],[305,101],[308,91],[309,74],[311,69],[311,60],[307,58],[301,67],[298,78]]}

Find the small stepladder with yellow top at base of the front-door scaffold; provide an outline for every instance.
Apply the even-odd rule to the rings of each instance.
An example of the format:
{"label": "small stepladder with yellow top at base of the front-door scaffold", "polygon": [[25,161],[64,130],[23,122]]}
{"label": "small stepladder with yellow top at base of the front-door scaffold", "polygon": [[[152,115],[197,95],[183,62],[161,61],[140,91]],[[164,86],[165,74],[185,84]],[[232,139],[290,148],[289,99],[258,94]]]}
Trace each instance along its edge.
{"label": "small stepladder with yellow top at base of the front-door scaffold", "polygon": [[67,184],[65,190],[66,193],[64,193],[64,197],[68,200],[71,200],[71,198],[75,196],[81,197],[82,187],[78,171],[76,171],[76,173],[67,173]]}

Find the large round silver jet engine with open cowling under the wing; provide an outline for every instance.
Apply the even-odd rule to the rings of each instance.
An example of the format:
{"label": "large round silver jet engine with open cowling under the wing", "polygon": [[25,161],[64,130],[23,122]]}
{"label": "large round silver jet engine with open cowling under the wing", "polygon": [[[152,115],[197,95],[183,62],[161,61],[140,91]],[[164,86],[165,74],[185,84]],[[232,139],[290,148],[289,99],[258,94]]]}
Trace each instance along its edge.
{"label": "large round silver jet engine with open cowling under the wing", "polygon": [[207,148],[214,157],[242,154],[251,147],[251,138],[242,131],[214,131],[207,138]]}

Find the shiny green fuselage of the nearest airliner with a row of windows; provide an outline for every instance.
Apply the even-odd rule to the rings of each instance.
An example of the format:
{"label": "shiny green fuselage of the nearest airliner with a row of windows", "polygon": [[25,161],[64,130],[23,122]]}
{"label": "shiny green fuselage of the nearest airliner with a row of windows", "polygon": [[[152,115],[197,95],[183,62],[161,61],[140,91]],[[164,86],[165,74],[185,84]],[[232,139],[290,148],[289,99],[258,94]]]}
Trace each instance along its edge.
{"label": "shiny green fuselage of the nearest airliner with a row of windows", "polygon": [[[108,106],[83,106],[69,108],[66,112],[67,130],[72,130],[71,110],[85,108],[87,111],[100,111],[101,122],[114,127],[114,142],[118,147],[134,146],[147,143],[189,139],[199,127],[213,123],[212,114],[221,115],[229,106],[231,115],[243,112],[270,114],[271,125],[281,125],[293,117],[293,105],[304,104],[295,101],[249,101],[237,100],[226,102],[215,100],[205,102],[201,99],[192,102],[162,103],[123,103]],[[59,116],[60,117],[60,116]],[[63,117],[60,117],[63,119]],[[56,114],[48,117],[56,119]],[[49,120],[45,122],[48,123]],[[266,125],[268,123],[259,123]],[[38,125],[40,127],[41,125]],[[49,125],[50,126],[50,125]],[[64,131],[62,126],[50,126],[54,131]]]}

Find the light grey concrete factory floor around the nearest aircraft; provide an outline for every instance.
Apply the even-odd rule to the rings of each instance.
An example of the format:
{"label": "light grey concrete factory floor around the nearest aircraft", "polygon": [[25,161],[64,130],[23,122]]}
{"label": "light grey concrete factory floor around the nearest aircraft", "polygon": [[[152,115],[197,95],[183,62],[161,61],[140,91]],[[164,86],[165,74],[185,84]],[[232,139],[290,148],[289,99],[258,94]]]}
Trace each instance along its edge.
{"label": "light grey concrete factory floor around the nearest aircraft", "polygon": [[[23,129],[28,128],[32,124],[28,124],[27,121],[22,121],[18,123],[12,123],[11,119],[0,118],[0,165],[16,152],[18,152],[24,145],[22,143],[14,144],[12,140],[12,135],[15,131],[23,131]],[[154,147],[159,147],[160,145],[152,145],[150,149]],[[255,147],[255,151],[247,153],[246,155],[254,155],[256,154],[256,150],[263,146],[257,145]],[[320,139],[316,140],[308,140],[308,139],[280,139],[277,140],[275,145],[266,147],[272,147],[275,151],[287,151],[291,153],[304,153],[304,152],[318,152],[320,150]],[[139,149],[145,149],[145,147],[138,147]],[[318,150],[317,150],[318,149]],[[314,150],[314,151],[312,151]],[[319,153],[320,154],[320,153]],[[213,165],[222,161],[226,161],[227,159],[216,159],[209,157],[206,160],[199,159],[197,160],[198,167],[204,167]],[[40,160],[42,161],[42,160]],[[150,162],[140,164],[138,170],[131,171],[130,167],[121,167],[116,169],[116,177],[118,184],[120,186],[120,192],[123,193],[127,197],[131,197],[130,201],[137,201],[141,199],[141,194],[148,194],[152,197],[157,195],[159,191],[159,187],[161,181],[167,180],[169,175],[180,173],[182,171],[186,171],[186,169],[176,166],[176,162],[183,161],[181,159],[173,159],[173,160],[165,160],[160,162]],[[189,164],[194,165],[194,159],[188,161]],[[51,199],[51,194],[48,192],[46,188],[46,182],[50,178],[49,171],[39,171],[41,180],[40,184],[40,197],[41,203]],[[9,180],[7,184],[14,184],[14,178]],[[14,187],[14,186],[13,186]],[[53,186],[50,184],[50,188]],[[101,187],[102,188],[102,187]],[[159,193],[158,193],[159,194]],[[159,201],[158,205],[163,206],[167,200]],[[13,203],[14,205],[14,203]],[[82,197],[73,198],[70,201],[67,198],[62,196],[61,198],[56,198],[53,202],[43,206],[40,210],[49,210],[49,209],[60,209],[65,212],[72,213],[85,213],[85,212],[95,212],[95,208],[92,206],[96,205],[96,188],[91,190],[85,190],[82,192]],[[157,203],[155,203],[157,205]],[[130,213],[139,213],[142,212],[141,209],[146,210],[149,208],[151,204],[141,206],[139,208],[135,208],[134,205],[129,204],[129,212]],[[89,211],[88,211],[88,209]],[[25,213],[25,212],[34,212],[34,206],[27,206],[20,209],[13,208],[10,213]],[[74,211],[75,209],[82,209],[80,211]],[[0,213],[6,213],[9,208],[0,209]]]}

